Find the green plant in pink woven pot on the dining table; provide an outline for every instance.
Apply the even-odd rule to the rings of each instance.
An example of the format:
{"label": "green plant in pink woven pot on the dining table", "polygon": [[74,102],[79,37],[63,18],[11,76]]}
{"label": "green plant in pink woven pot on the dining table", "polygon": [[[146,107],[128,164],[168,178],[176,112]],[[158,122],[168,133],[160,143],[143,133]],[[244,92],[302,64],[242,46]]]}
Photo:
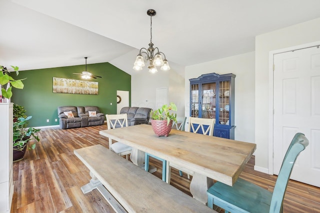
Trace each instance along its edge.
{"label": "green plant in pink woven pot on the dining table", "polygon": [[171,131],[173,122],[176,122],[176,114],[170,113],[170,110],[176,111],[174,103],[164,104],[162,107],[151,111],[151,126],[156,136],[167,137]]}

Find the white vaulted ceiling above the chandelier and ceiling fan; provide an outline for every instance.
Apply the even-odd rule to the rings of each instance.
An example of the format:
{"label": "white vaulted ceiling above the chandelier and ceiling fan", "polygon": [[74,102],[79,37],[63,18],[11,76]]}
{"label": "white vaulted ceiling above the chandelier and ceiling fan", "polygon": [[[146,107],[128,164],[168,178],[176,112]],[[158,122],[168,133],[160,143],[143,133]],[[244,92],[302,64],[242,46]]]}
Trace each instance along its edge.
{"label": "white vaulted ceiling above the chandelier and ceiling fan", "polygon": [[256,35],[320,17],[319,0],[0,0],[0,8],[1,65],[71,66],[87,56],[129,74],[150,41],[149,8],[152,42],[173,69],[254,51]]}

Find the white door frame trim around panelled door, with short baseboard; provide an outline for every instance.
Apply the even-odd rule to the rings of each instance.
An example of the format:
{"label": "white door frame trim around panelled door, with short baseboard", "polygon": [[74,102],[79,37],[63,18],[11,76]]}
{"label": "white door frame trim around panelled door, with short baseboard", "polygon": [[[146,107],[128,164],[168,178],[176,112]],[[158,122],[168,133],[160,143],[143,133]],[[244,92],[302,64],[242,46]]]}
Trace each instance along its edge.
{"label": "white door frame trim around panelled door, with short baseboard", "polygon": [[[297,46],[290,46],[282,49],[277,49],[277,50],[272,50],[269,51],[269,119],[268,119],[268,124],[269,124],[269,134],[268,134],[268,147],[269,147],[269,152],[268,152],[268,174],[273,175],[273,55],[286,52],[286,51],[293,51],[297,49],[302,49],[302,48],[308,48],[311,46],[317,46],[320,45],[320,40],[311,42],[311,43],[305,43],[305,44],[300,44]],[[254,170],[263,172],[263,168],[255,167]]]}

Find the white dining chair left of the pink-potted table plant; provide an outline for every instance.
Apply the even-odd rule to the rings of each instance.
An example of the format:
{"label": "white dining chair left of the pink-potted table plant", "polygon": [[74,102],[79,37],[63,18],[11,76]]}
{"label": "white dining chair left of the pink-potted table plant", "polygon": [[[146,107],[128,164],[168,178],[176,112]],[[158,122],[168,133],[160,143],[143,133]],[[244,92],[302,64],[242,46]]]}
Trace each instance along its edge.
{"label": "white dining chair left of the pink-potted table plant", "polygon": [[[128,126],[126,114],[105,115],[105,117],[107,129],[122,128]],[[112,139],[110,138],[109,149],[120,156],[125,155],[126,160],[128,160],[128,155],[132,151],[132,147],[122,144],[121,142],[112,143]]]}

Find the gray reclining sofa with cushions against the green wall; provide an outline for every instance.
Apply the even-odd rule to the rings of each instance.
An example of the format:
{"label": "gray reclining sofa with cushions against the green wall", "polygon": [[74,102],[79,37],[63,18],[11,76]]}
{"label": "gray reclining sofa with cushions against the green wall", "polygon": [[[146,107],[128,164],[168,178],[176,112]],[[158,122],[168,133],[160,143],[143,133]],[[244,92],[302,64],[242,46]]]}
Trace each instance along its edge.
{"label": "gray reclining sofa with cushions against the green wall", "polygon": [[[72,112],[73,118],[68,118],[64,112]],[[95,116],[89,116],[89,111],[95,113]],[[87,127],[102,125],[104,123],[104,114],[100,113],[96,106],[60,106],[58,107],[58,118],[61,129],[76,127]]]}

